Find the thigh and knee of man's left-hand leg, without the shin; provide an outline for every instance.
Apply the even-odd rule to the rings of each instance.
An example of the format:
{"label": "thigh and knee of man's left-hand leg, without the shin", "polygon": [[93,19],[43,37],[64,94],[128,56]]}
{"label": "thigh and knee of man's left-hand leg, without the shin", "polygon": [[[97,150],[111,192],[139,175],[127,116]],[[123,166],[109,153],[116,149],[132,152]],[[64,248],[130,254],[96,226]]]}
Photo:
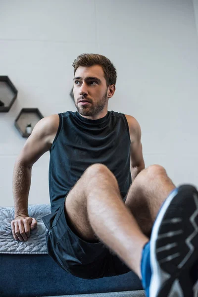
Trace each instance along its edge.
{"label": "thigh and knee of man's left-hand leg, without the shin", "polygon": [[88,217],[87,201],[90,193],[99,192],[101,185],[107,181],[117,186],[115,177],[105,165],[93,164],[83,173],[65,200],[68,225],[85,241],[98,242]]}

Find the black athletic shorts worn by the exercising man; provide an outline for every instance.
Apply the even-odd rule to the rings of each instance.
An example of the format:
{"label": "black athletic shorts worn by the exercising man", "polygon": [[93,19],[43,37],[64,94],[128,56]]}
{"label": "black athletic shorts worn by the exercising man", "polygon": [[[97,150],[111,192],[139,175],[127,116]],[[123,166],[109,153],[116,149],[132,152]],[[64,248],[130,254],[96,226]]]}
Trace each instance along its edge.
{"label": "black athletic shorts worn by the exercising man", "polygon": [[42,218],[48,228],[48,253],[54,261],[68,273],[84,279],[115,276],[131,271],[102,242],[86,242],[71,230],[67,224],[65,199],[58,211]]}

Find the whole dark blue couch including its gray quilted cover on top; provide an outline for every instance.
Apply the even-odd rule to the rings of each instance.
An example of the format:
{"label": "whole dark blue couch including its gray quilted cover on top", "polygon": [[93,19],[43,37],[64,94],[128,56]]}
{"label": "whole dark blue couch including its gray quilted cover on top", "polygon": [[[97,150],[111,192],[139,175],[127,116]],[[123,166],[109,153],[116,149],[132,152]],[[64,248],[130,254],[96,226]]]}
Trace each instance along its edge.
{"label": "whole dark blue couch including its gray quilted cover on top", "polygon": [[[46,227],[42,217],[50,213],[49,204],[28,206],[38,226],[27,242],[16,242],[11,232],[13,207],[0,207],[0,297],[47,297],[119,292],[119,297],[143,297],[142,285],[132,271],[96,280],[77,278],[65,272],[48,255]],[[100,295],[101,293],[101,295]],[[88,294],[88,295],[87,295]],[[113,296],[118,296],[112,293]],[[109,293],[107,296],[112,296]],[[105,294],[106,297],[106,294]]]}

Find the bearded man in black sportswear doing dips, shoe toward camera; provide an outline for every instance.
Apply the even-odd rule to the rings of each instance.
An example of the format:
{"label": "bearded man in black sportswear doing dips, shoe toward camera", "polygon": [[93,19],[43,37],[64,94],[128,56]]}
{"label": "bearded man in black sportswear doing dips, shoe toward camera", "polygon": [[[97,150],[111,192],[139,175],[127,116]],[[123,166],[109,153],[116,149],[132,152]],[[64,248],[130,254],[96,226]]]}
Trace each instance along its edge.
{"label": "bearded man in black sportswear doing dips, shoe toward camera", "polygon": [[159,165],[145,169],[139,123],[107,110],[116,84],[110,60],[82,54],[73,66],[78,111],[40,120],[16,160],[14,239],[26,241],[36,227],[28,216],[31,168],[49,150],[49,255],[77,277],[133,270],[147,296],[193,296],[197,190],[176,188]]}

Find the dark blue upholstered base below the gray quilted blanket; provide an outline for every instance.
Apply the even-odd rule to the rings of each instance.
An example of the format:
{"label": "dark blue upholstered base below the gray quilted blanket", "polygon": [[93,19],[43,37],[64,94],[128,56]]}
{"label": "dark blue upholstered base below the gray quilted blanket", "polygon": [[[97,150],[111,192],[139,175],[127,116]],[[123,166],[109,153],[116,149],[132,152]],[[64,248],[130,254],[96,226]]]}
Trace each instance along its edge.
{"label": "dark blue upholstered base below the gray quilted blanket", "polygon": [[[115,277],[85,280],[65,272],[49,255],[0,254],[0,297],[92,293],[98,293],[99,296],[99,293],[104,292],[141,289],[141,282],[133,272]],[[141,292],[138,296],[144,295]]]}

